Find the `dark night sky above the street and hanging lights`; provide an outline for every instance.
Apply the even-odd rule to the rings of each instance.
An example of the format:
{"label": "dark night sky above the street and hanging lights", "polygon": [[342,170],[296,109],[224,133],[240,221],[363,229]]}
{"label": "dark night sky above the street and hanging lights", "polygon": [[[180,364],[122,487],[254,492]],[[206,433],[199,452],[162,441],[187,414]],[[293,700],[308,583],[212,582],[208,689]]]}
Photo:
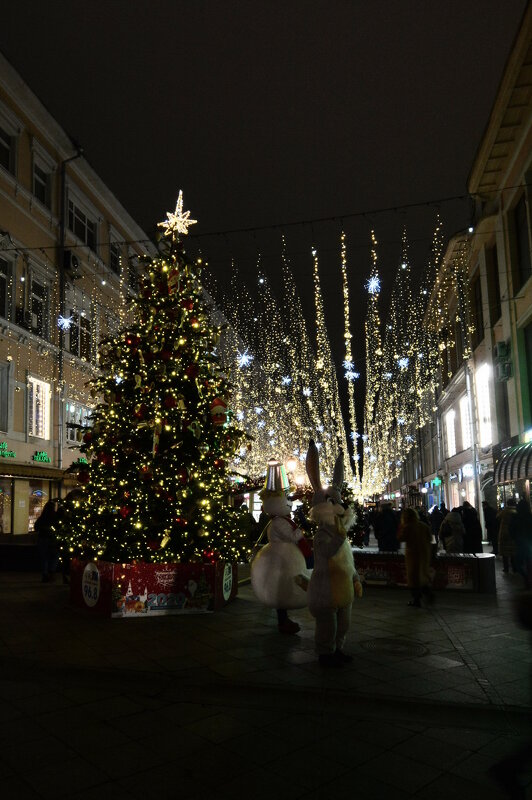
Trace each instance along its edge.
{"label": "dark night sky above the street and hanging lights", "polygon": [[[343,224],[363,371],[369,232],[379,239],[386,296],[405,225],[418,274],[437,208],[447,236],[467,227],[467,201],[428,201],[466,193],[525,7],[17,0],[3,11],[0,49],[145,230],[183,189],[199,220],[190,248],[201,245],[218,279],[235,258],[252,287],[260,252],[275,283],[284,232],[310,319],[316,245],[340,356]],[[412,203],[423,205],[401,208]],[[397,210],[378,212],[387,208]],[[231,233],[263,226],[273,227]]]}

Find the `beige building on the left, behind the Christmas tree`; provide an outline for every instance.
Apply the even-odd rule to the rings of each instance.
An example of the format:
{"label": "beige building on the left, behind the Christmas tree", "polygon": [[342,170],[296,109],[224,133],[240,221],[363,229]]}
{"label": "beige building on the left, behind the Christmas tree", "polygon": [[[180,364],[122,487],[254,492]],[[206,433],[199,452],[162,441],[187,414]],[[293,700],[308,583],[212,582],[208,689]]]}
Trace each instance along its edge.
{"label": "beige building on the left, behind the Christmas tree", "polygon": [[124,321],[150,252],[0,55],[0,533],[31,531],[74,485],[98,343]]}

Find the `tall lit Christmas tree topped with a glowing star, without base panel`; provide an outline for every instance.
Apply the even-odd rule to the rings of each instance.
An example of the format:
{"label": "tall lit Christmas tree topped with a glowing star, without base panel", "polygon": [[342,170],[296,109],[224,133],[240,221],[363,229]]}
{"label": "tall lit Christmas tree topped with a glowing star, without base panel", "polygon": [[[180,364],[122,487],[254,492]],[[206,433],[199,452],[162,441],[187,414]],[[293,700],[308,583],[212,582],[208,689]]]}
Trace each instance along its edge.
{"label": "tall lit Christmas tree topped with a glowing star, without base panel", "polygon": [[161,255],[145,264],[133,323],[100,345],[98,403],[83,436],[84,496],[63,546],[113,562],[236,560],[248,548],[228,504],[228,464],[242,433],[227,411],[230,387],[216,345],[221,328],[180,234],[195,220],[182,193]]}

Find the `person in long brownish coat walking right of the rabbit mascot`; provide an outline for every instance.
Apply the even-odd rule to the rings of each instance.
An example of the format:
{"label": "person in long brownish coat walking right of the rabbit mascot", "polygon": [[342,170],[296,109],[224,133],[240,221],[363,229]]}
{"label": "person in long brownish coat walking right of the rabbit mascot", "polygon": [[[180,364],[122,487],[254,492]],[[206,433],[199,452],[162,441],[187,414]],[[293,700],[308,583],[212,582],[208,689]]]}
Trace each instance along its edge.
{"label": "person in long brownish coat walking right of the rabbit mascot", "polygon": [[421,597],[430,602],[434,594],[430,588],[430,544],[432,532],[429,526],[419,519],[414,508],[405,508],[397,538],[405,542],[406,580],[412,594],[409,606],[421,607]]}

